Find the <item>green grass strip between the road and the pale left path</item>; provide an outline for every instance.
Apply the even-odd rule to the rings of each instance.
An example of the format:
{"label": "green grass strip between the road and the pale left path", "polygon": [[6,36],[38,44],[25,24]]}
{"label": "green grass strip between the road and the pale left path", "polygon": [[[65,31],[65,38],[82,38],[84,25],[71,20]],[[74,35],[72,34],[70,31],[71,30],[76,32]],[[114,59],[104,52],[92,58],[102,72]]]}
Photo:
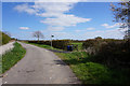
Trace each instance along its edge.
{"label": "green grass strip between the road and the pale left path", "polygon": [[2,71],[4,73],[11,67],[13,67],[18,60],[21,60],[24,55],[26,54],[25,48],[22,47],[21,44],[17,42],[14,43],[14,48],[11,52],[5,53],[2,55]]}

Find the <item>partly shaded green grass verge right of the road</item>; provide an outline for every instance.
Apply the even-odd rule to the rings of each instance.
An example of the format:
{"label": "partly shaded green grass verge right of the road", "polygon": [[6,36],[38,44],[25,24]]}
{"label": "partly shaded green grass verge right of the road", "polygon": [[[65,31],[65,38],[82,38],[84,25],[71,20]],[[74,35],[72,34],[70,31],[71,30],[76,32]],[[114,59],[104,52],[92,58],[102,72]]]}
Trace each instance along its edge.
{"label": "partly shaded green grass verge right of the road", "polygon": [[92,62],[84,52],[55,54],[73,69],[83,84],[130,84],[129,69],[108,69],[104,64]]}

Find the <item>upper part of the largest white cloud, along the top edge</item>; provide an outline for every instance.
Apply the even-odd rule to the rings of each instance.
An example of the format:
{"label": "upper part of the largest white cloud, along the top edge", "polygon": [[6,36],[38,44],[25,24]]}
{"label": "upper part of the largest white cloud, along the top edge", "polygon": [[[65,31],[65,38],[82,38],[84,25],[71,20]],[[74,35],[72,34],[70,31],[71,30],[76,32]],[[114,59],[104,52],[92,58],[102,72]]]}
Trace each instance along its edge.
{"label": "upper part of the largest white cloud, along the top edge", "polygon": [[68,3],[68,2],[36,2],[32,8],[35,10],[44,10],[43,14],[49,14],[49,13],[65,13],[68,12],[70,9],[74,8],[74,2]]}

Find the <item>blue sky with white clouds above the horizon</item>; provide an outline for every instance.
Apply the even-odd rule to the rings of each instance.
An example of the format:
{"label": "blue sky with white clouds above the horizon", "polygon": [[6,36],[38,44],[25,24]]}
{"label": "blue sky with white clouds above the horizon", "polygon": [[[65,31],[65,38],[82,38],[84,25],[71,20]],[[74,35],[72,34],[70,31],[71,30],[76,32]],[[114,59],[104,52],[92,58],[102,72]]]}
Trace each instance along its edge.
{"label": "blue sky with white clouds above the horizon", "polygon": [[113,20],[110,2],[2,2],[2,31],[21,40],[36,40],[35,31],[43,40],[122,39]]}

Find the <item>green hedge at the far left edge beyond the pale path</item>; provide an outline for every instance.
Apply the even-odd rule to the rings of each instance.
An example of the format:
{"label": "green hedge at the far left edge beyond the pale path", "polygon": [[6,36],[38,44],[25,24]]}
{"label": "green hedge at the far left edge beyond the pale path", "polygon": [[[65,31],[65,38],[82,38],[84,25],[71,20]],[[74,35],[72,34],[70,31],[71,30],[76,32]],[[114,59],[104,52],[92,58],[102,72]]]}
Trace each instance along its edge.
{"label": "green hedge at the far left edge beyond the pale path", "polygon": [[11,38],[8,34],[0,31],[0,45],[9,43],[10,40]]}

